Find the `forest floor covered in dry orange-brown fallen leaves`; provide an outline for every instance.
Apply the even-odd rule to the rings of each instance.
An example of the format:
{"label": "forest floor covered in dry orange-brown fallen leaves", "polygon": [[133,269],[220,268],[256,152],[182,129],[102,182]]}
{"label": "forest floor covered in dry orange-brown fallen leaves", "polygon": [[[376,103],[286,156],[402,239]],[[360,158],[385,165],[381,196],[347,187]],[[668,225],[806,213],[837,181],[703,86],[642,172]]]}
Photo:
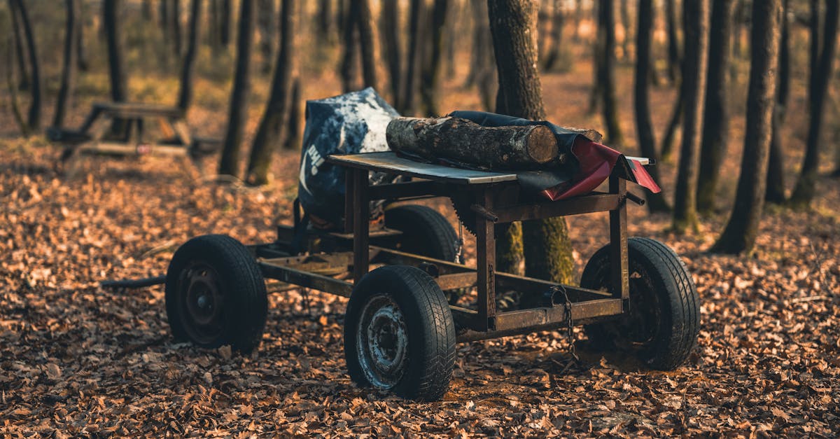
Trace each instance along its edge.
{"label": "forest floor covered in dry orange-brown fallen leaves", "polygon": [[[632,75],[627,66],[620,73],[622,124],[632,139],[626,98]],[[590,77],[586,66],[543,77],[549,119],[601,126],[581,110]],[[317,89],[305,83],[303,96],[338,92],[334,77],[324,83]],[[202,103],[201,84],[197,93]],[[652,95],[661,130],[673,90]],[[804,137],[795,128],[805,126],[800,95],[785,130],[789,188]],[[445,83],[442,96],[444,111],[479,105],[475,92],[455,83]],[[84,115],[91,98],[85,99],[73,121]],[[252,105],[253,114],[261,109]],[[190,119],[220,135],[224,104],[199,105]],[[251,134],[254,124],[252,117]],[[195,235],[270,241],[273,225],[291,222],[299,152],[281,153],[274,164],[279,177],[266,188],[218,183],[155,157],[91,158],[67,179],[53,171],[55,148],[39,137],[16,137],[6,113],[0,126],[3,436],[840,435],[837,180],[820,178],[811,210],[768,207],[753,256],[705,252],[732,205],[743,115],[732,118],[720,211],[704,217],[697,233],[671,233],[668,215],[636,207],[629,213],[631,235],[673,247],[697,284],[701,333],[685,366],[664,373],[602,357],[586,349],[580,328],[575,338],[587,364],[568,369],[570,345],[561,332],[477,341],[458,346],[449,393],[434,403],[350,382],[345,299],[317,291],[272,294],[262,344],[243,357],[173,343],[161,287],[99,288],[103,279],[164,273],[176,247]],[[638,153],[633,145],[624,150]],[[831,170],[829,154],[822,175]],[[207,159],[207,169],[215,160]],[[673,163],[659,165],[666,193],[674,186]],[[447,203],[433,205],[454,220]],[[569,221],[580,274],[606,243],[606,215]],[[269,284],[270,291],[277,287]]]}

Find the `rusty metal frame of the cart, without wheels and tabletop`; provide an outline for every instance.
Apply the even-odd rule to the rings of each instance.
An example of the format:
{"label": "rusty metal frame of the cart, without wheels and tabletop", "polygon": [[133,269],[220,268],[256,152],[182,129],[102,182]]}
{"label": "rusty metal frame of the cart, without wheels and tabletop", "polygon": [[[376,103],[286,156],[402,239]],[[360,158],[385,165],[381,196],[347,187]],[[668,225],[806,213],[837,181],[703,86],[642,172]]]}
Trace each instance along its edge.
{"label": "rusty metal frame of the cart, without wheels and tabletop", "polygon": [[[615,318],[629,306],[629,273],[627,262],[627,183],[611,176],[607,193],[589,195],[561,201],[533,203],[506,203],[498,195],[515,182],[490,182],[483,184],[458,184],[450,181],[397,182],[381,186],[369,185],[369,169],[347,167],[344,233],[316,234],[317,239],[328,237],[344,242],[345,251],[336,251],[312,257],[277,257],[272,248],[286,248],[292,230],[278,228],[275,243],[255,246],[260,267],[267,278],[276,278],[307,288],[349,297],[353,284],[368,272],[371,266],[404,264],[421,267],[433,275],[443,290],[475,288],[475,309],[451,306],[458,328],[458,341],[475,341],[499,336],[512,336],[533,331],[555,329],[567,323],[564,304],[551,304],[531,309],[499,311],[496,309],[496,288],[511,288],[523,293],[544,293],[562,287],[568,295],[573,323],[580,324]],[[466,267],[454,262],[441,261],[403,251],[371,245],[379,236],[398,235],[396,230],[370,230],[369,202],[371,199],[406,199],[446,196],[453,191],[467,191],[474,200],[471,208],[476,212],[476,267]],[[572,285],[561,285],[535,278],[526,278],[496,272],[496,224],[517,220],[544,219],[554,216],[609,212],[610,264],[612,293],[594,291]],[[350,242],[352,241],[352,246]],[[340,246],[339,246],[340,247]],[[352,249],[352,251],[350,251]],[[272,257],[273,255],[273,257]],[[307,265],[308,264],[308,265]],[[432,267],[432,268],[430,268]],[[320,270],[320,272],[318,272]],[[333,278],[323,272],[343,272],[353,283]]]}

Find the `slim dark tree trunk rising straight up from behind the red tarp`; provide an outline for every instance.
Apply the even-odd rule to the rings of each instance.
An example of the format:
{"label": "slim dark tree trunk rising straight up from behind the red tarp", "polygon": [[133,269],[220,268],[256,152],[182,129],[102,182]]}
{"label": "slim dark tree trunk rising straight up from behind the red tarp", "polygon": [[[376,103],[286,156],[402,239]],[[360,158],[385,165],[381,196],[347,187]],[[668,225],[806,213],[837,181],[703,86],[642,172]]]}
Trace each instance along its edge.
{"label": "slim dark tree trunk rising straight up from behind the red tarp", "polygon": [[606,122],[606,137],[612,145],[624,144],[622,135],[621,118],[618,116],[618,104],[616,102],[616,23],[613,17],[612,0],[601,0],[601,7],[598,8],[598,33],[601,34],[601,64],[598,69],[598,79],[603,88],[601,98],[603,99],[602,110]]}

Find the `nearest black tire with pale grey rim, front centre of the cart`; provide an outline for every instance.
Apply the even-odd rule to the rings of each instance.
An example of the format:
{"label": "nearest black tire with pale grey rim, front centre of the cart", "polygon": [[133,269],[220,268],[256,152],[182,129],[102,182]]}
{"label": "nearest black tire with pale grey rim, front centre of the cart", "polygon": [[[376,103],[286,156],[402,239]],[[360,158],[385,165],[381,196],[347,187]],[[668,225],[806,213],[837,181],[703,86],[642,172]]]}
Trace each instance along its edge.
{"label": "nearest black tire with pale grey rim, front centre of the cart", "polygon": [[455,364],[455,327],[434,279],[399,265],[366,274],[347,305],[344,357],[361,387],[407,399],[443,397]]}

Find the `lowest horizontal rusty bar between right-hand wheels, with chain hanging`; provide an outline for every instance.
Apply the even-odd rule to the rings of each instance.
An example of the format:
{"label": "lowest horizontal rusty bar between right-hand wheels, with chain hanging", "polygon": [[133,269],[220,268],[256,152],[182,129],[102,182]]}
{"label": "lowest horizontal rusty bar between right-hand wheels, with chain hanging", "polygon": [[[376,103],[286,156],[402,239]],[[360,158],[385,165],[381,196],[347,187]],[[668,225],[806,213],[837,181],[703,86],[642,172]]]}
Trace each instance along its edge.
{"label": "lowest horizontal rusty bar between right-hand wheels, with chain hanging", "polygon": [[[621,313],[621,299],[589,300],[572,304],[572,321],[575,324],[604,320]],[[468,325],[470,313],[458,313],[458,315],[461,324],[461,330],[457,335],[459,343],[546,331],[565,324],[565,307],[563,305],[500,313],[496,315],[496,329],[491,331],[471,328]]]}

